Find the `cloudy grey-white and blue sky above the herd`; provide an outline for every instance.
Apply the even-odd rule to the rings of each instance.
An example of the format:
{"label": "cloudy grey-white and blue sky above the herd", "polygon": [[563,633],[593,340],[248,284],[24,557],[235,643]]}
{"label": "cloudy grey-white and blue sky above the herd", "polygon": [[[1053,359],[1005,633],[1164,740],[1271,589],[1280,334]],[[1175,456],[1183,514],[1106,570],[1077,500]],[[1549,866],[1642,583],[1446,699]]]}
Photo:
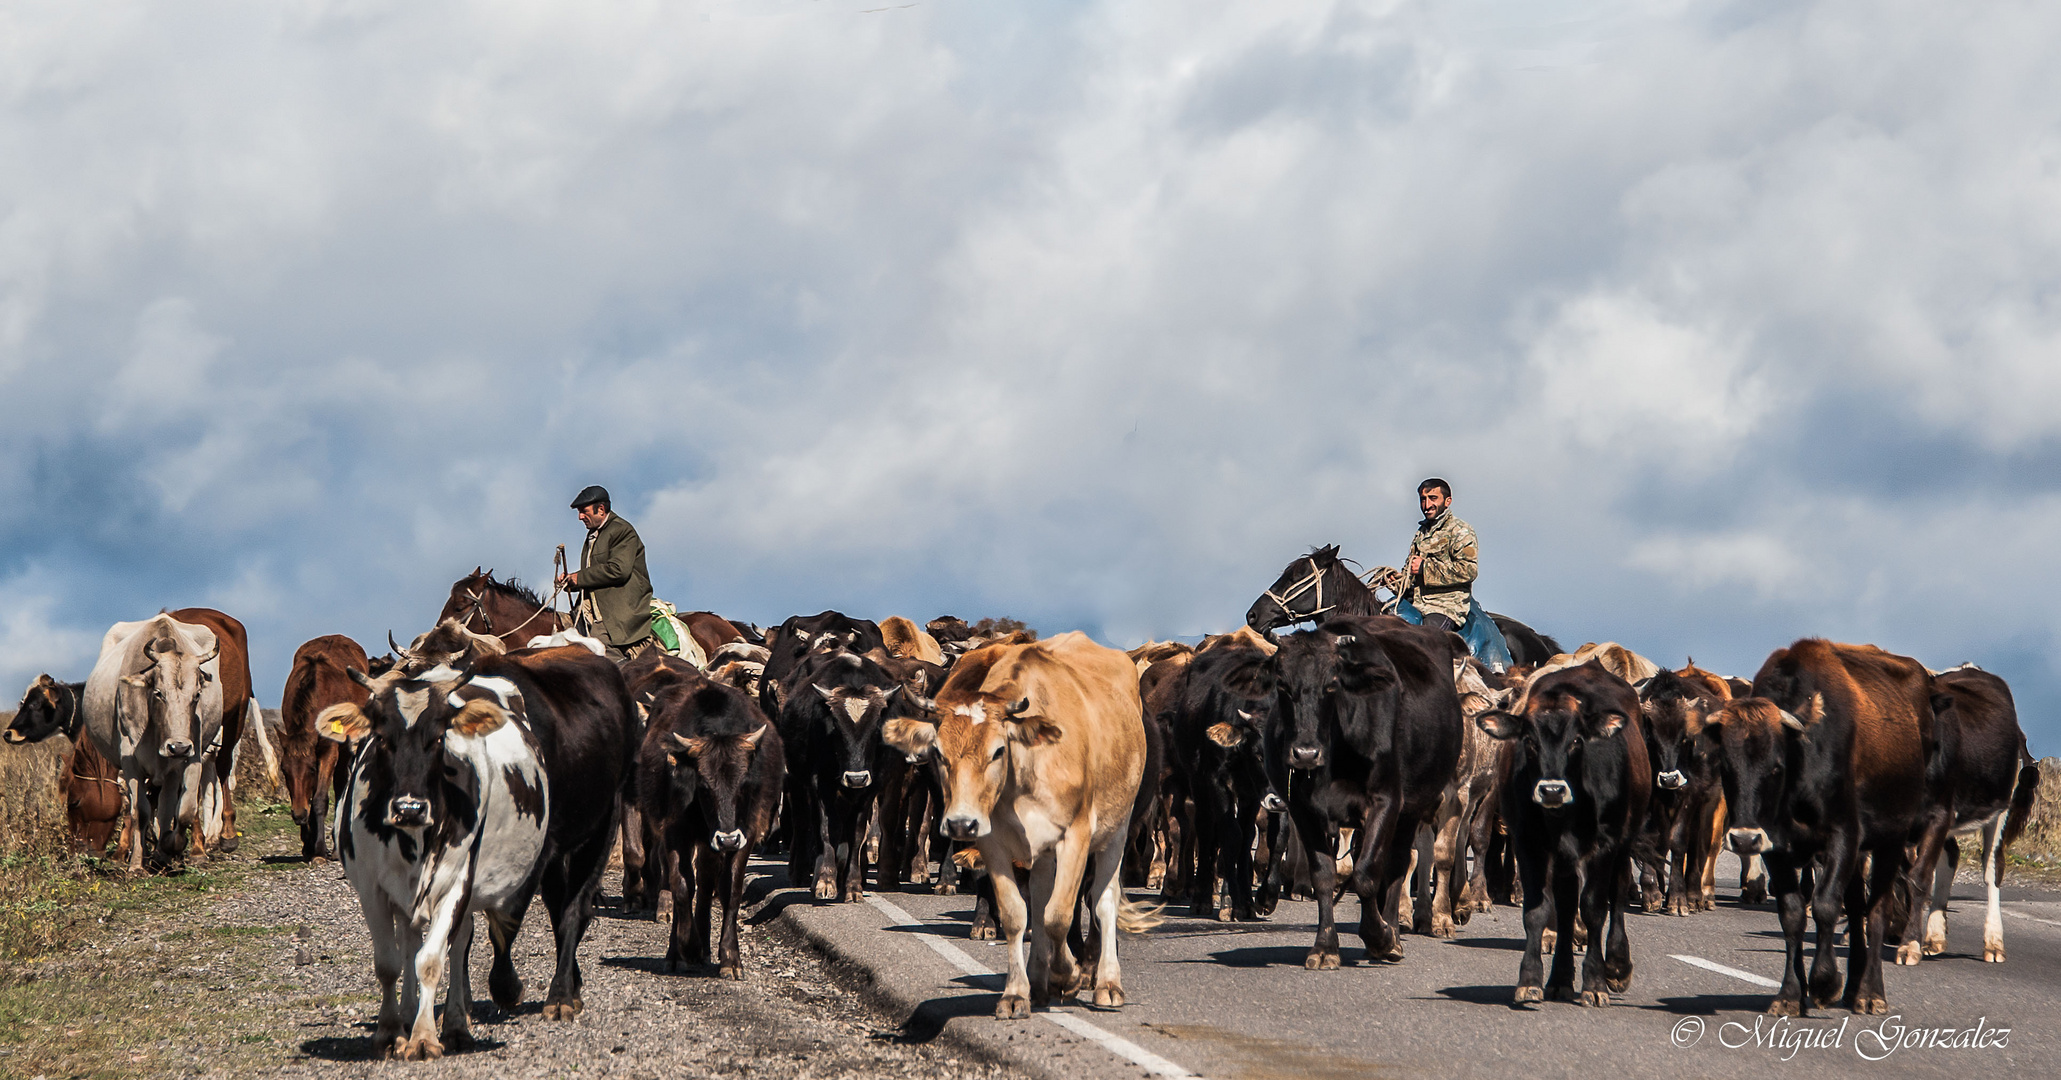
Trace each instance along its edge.
{"label": "cloudy grey-white and blue sky above the herd", "polygon": [[0,680],[530,581],[616,493],[736,618],[1237,625],[1453,480],[1478,596],[2061,752],[2053,4],[0,12]]}

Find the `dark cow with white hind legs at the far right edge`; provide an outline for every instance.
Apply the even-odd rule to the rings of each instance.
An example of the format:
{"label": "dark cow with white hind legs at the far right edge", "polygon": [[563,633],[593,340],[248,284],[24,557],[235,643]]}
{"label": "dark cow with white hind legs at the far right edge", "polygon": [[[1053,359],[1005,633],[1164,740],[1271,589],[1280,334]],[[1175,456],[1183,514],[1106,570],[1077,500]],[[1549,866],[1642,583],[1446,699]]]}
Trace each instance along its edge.
{"label": "dark cow with white hind legs at the far right edge", "polygon": [[[1896,948],[1898,965],[1919,963],[1946,952],[1946,905],[1954,888],[1958,847],[1950,837],[1983,835],[1983,886],[1989,911],[1983,919],[1983,960],[2003,963],[2003,915],[1999,882],[2003,853],[2026,826],[2032,798],[2038,794],[2040,769],[2026,750],[2026,734],[2018,728],[2018,707],[2012,688],[1997,676],[1964,664],[1933,676],[1933,686],[1946,701],[1933,699],[1939,725],[1939,767],[1946,771],[1948,800],[1919,841],[1908,876],[1911,921]],[[1948,857],[1941,859],[1941,847]],[[1925,882],[1931,878],[1927,903]],[[1923,930],[1923,944],[1919,932]]]}

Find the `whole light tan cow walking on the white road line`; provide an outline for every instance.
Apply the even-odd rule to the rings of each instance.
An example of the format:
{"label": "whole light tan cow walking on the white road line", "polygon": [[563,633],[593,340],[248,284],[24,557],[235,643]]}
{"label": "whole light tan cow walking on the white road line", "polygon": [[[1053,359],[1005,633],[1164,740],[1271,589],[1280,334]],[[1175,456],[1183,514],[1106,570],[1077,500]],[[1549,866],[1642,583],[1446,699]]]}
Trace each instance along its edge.
{"label": "whole light tan cow walking on the white road line", "polygon": [[[989,878],[1010,977],[995,1018],[1028,1016],[1033,1004],[1080,989],[1063,942],[1090,855],[1101,930],[1094,1004],[1121,1006],[1119,870],[1146,767],[1138,668],[1082,633],[989,645],[958,660],[936,715],[936,728],[890,719],[882,734],[907,754],[932,756],[944,791],[940,831],[975,841],[998,870]],[[1030,868],[1028,905],[1010,866]]]}

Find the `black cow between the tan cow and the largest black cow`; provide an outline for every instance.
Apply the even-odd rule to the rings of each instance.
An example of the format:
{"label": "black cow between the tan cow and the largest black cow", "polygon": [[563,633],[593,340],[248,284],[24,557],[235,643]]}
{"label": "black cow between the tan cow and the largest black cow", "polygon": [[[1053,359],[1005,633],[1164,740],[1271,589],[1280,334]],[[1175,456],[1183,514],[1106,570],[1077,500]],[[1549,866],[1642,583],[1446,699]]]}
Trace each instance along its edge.
{"label": "black cow between the tan cow and the largest black cow", "polygon": [[1228,682],[1265,660],[1261,649],[1241,645],[1195,653],[1175,672],[1171,703],[1150,725],[1171,734],[1169,779],[1181,787],[1173,798],[1183,816],[1181,845],[1167,876],[1179,874],[1187,884],[1197,917],[1255,917],[1253,839],[1268,794],[1259,758],[1265,705],[1237,695]]}

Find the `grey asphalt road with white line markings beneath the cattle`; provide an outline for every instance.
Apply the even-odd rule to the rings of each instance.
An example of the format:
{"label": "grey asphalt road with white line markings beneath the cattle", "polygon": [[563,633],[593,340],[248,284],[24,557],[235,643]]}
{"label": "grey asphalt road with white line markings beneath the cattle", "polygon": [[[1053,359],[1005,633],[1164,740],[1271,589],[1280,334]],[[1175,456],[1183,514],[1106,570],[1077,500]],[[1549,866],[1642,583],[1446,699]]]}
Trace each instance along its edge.
{"label": "grey asphalt road with white line markings beneath the cattle", "polygon": [[[1329,973],[1303,969],[1315,903],[1284,903],[1261,923],[1173,917],[1123,940],[1125,1008],[1068,1006],[1010,1022],[989,1016],[1002,979],[983,973],[1004,971],[1006,956],[995,944],[967,940],[967,897],[894,892],[870,895],[866,905],[831,905],[783,890],[767,907],[868,969],[878,995],[899,1004],[907,1039],[950,1033],[1026,1072],[1156,1070],[1226,1080],[1589,1078],[1599,1070],[1667,1078],[1970,1070],[2053,1076],[2061,1049],[2061,892],[2007,890],[2009,963],[1985,965],[1981,886],[1958,886],[1948,952],[1917,969],[1886,967],[1890,1016],[1834,1008],[1777,1022],[1762,1014],[1772,998],[1762,983],[1779,979],[1783,965],[1775,911],[1737,905],[1735,890],[1723,886],[1737,880],[1731,866],[1719,880],[1717,911],[1628,915],[1636,971],[1610,1008],[1511,1004],[1523,948],[1511,907],[1476,915],[1453,940],[1406,936],[1401,963],[1366,965],[1358,938],[1344,934],[1358,909],[1342,901],[1346,967]],[[1927,1039],[1913,1033],[1970,1026],[1983,1028],[1987,1047],[1913,1043]],[[1119,1051],[1144,1053],[1125,1061],[1082,1037],[1094,1028],[1129,1045]]]}

